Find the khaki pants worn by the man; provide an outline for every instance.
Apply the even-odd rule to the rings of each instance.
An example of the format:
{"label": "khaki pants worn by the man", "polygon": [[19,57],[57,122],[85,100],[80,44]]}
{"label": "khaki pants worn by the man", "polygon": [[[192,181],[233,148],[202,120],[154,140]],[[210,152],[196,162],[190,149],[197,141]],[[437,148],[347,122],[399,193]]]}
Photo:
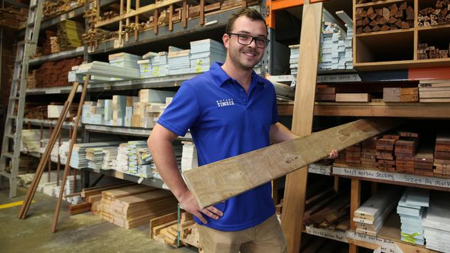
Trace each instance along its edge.
{"label": "khaki pants worn by the man", "polygon": [[276,215],[255,227],[223,232],[199,225],[199,243],[204,253],[285,253],[287,244]]}

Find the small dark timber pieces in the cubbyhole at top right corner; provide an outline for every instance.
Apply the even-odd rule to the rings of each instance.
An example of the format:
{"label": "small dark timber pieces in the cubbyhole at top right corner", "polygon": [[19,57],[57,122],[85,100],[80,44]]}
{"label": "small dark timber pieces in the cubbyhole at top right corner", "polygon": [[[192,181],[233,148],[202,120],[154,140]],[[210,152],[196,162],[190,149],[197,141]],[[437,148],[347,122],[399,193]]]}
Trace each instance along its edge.
{"label": "small dark timber pieces in the cubbyhole at top right corner", "polygon": [[450,22],[450,1],[436,1],[434,8],[428,7],[419,10],[417,16],[418,26],[436,26]]}

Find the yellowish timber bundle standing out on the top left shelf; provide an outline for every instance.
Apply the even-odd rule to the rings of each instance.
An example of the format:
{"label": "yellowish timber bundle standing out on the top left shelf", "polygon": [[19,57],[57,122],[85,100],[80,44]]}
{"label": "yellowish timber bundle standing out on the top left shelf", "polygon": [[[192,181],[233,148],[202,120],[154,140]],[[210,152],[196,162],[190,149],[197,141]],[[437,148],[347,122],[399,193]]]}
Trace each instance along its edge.
{"label": "yellowish timber bundle standing out on the top left shelf", "polygon": [[58,23],[57,37],[62,50],[69,50],[82,46],[84,28],[82,24],[66,19]]}

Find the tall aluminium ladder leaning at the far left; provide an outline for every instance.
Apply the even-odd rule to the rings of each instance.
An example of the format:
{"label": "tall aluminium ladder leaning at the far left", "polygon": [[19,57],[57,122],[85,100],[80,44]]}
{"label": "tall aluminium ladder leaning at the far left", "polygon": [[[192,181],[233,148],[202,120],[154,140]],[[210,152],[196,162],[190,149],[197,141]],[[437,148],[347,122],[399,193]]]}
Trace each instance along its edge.
{"label": "tall aluminium ladder leaning at the far left", "polygon": [[[24,107],[26,96],[26,79],[30,55],[36,52],[37,38],[43,16],[44,0],[31,0],[26,21],[24,41],[17,44],[14,74],[6,111],[5,132],[1,144],[0,185],[3,177],[10,182],[10,198],[17,192],[17,175],[19,174],[20,144],[22,125],[24,124]],[[15,131],[13,131],[15,122]],[[7,165],[10,165],[9,167]]]}

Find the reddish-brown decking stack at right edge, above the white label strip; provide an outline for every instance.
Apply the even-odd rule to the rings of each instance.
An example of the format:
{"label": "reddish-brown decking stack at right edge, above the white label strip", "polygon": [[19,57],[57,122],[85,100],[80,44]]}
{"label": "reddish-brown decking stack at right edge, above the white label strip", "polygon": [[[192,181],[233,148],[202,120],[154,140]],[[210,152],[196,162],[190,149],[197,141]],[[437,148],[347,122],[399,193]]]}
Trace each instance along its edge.
{"label": "reddish-brown decking stack at right edge, above the white label strip", "polygon": [[450,135],[440,133],[434,147],[434,176],[450,178]]}

